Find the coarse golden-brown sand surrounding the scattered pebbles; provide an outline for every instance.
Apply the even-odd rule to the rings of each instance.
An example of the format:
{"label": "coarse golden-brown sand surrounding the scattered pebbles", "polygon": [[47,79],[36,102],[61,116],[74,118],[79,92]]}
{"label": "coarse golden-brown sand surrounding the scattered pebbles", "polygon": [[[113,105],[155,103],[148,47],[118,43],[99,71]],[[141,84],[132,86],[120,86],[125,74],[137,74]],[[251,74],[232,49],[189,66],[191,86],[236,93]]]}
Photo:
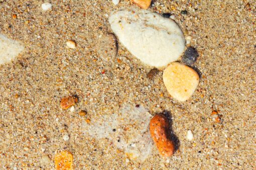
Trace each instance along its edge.
{"label": "coarse golden-brown sand surrounding the scattered pebbles", "polygon": [[[74,169],[256,168],[256,1],[153,0],[148,10],[170,12],[191,37],[186,46],[199,53],[193,68],[200,82],[184,102],[167,92],[164,69],[148,78],[153,67],[118,40],[112,62],[96,52],[98,37],[112,32],[111,12],[138,6],[129,0],[50,0],[52,9],[42,11],[43,2],[0,0],[0,33],[25,46],[0,65],[0,169],[54,169],[59,150],[73,154]],[[75,49],[66,47],[70,39]],[[74,111],[60,107],[67,95],[79,98]],[[153,145],[145,160],[130,159],[112,141],[114,132],[86,133],[84,123],[97,129],[97,120],[110,121],[127,105],[169,115],[173,156],[161,157]]]}

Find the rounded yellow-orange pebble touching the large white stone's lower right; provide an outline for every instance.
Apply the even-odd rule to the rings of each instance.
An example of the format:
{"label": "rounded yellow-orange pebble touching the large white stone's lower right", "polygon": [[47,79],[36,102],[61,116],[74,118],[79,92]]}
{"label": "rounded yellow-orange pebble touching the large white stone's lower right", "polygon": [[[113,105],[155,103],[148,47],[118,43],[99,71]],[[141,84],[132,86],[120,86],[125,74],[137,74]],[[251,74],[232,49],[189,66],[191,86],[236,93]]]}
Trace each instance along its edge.
{"label": "rounded yellow-orange pebble touching the large white stone's lower right", "polygon": [[179,62],[173,62],[165,68],[163,79],[167,91],[179,101],[187,100],[199,83],[197,72]]}

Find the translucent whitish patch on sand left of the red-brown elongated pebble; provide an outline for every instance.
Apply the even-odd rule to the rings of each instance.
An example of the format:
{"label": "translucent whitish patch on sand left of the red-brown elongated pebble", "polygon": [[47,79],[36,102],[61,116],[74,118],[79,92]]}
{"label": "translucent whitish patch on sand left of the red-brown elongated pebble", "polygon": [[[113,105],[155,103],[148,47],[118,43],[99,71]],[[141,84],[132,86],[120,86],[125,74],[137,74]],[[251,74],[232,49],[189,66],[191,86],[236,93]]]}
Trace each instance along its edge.
{"label": "translucent whitish patch on sand left of the red-brown elongated pebble", "polygon": [[130,159],[144,161],[152,151],[149,132],[151,114],[143,106],[123,106],[118,113],[103,115],[83,123],[83,132],[93,138],[108,138]]}

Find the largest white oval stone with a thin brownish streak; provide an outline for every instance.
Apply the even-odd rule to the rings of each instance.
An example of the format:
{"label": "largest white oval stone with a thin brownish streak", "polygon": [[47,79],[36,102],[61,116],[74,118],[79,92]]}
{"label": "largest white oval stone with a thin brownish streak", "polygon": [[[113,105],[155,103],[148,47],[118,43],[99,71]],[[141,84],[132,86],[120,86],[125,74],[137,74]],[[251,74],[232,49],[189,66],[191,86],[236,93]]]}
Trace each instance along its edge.
{"label": "largest white oval stone with a thin brownish streak", "polygon": [[109,17],[119,41],[142,62],[163,67],[176,61],[185,48],[180,27],[148,10],[120,10]]}

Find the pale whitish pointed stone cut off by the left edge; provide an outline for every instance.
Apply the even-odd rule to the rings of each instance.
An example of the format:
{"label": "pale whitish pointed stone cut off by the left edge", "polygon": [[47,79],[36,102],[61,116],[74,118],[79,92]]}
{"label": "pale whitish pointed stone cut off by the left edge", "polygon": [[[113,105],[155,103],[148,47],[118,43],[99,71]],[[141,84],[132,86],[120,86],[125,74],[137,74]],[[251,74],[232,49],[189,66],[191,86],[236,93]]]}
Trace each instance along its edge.
{"label": "pale whitish pointed stone cut off by the left edge", "polygon": [[22,50],[24,50],[24,46],[20,42],[0,34],[0,64],[10,62]]}

